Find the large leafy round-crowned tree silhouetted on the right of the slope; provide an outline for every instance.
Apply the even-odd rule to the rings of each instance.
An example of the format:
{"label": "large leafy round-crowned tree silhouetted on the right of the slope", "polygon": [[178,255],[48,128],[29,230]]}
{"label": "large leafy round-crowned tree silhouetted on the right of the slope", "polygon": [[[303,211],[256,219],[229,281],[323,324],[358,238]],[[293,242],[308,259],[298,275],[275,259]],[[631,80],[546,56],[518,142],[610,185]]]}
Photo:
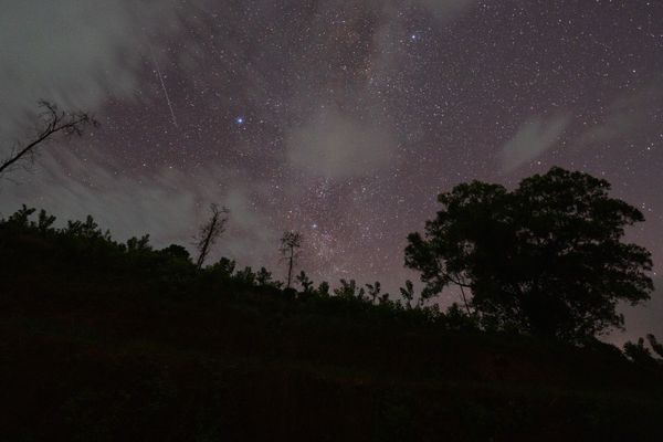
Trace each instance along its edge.
{"label": "large leafy round-crowned tree silhouetted on the right of the slope", "polygon": [[610,185],[552,168],[507,191],[480,181],[439,196],[425,232],[408,236],[406,265],[428,294],[455,284],[482,320],[567,340],[623,328],[618,302],[648,299],[650,253],[621,242],[644,220]]}

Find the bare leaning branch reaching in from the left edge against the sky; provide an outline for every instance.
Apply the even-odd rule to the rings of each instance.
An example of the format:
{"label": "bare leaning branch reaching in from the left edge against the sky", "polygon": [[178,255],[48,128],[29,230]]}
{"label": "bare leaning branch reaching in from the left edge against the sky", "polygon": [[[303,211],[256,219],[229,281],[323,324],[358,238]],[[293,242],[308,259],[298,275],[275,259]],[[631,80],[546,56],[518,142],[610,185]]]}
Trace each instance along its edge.
{"label": "bare leaning branch reaching in from the left edge against the sky", "polygon": [[45,101],[40,102],[39,107],[42,112],[39,114],[34,135],[25,143],[18,141],[9,157],[1,160],[0,175],[11,170],[22,160],[33,158],[36,149],[57,134],[81,136],[87,126],[98,126],[94,117],[84,112],[61,110],[56,105]]}

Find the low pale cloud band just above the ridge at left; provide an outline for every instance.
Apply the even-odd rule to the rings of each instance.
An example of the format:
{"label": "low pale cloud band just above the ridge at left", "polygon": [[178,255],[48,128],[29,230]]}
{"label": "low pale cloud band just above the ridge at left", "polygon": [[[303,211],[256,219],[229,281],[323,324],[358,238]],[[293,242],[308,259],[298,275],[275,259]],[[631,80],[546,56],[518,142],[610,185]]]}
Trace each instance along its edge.
{"label": "low pale cloud band just above the ridge at left", "polygon": [[[243,180],[219,166],[196,170],[196,180],[190,173],[169,168],[131,177],[113,169],[65,152],[59,158],[44,152],[32,175],[15,173],[13,180],[0,182],[0,217],[25,203],[45,209],[62,222],[92,214],[123,241],[149,233],[156,246],[190,246],[209,204],[215,202],[228,207],[231,218],[214,255],[253,265],[272,261],[280,231],[254,203],[266,192],[263,183]],[[88,177],[94,177],[94,186],[87,183]]]}

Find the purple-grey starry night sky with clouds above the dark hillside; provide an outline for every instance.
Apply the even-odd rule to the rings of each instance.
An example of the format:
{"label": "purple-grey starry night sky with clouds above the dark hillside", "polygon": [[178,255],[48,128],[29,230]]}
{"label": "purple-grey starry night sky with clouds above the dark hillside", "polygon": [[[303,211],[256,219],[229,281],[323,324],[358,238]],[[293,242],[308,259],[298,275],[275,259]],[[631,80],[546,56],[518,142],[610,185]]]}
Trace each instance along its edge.
{"label": "purple-grey starry night sky with clouds above the dark hillside", "polygon": [[661,0],[0,6],[2,148],[39,98],[102,124],[4,179],[2,215],[92,213],[118,239],[190,246],[217,202],[231,220],[214,257],[283,277],[295,229],[314,280],[393,291],[417,277],[406,235],[438,193],[558,165],[643,211],[629,240],[663,271]]}

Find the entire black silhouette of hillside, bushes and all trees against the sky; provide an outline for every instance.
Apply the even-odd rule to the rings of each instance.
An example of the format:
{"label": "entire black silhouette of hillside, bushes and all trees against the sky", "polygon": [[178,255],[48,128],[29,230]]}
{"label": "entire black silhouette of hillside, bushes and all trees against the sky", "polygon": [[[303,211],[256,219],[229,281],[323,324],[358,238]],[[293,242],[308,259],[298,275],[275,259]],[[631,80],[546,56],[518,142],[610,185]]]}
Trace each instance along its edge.
{"label": "entire black silhouette of hillside, bushes and all trees against the sky", "polygon": [[[41,106],[0,173],[96,124]],[[559,168],[456,186],[409,236],[424,288],[398,301],[295,274],[297,232],[286,283],[206,267],[214,204],[194,260],[23,207],[0,221],[0,441],[663,440],[663,346],[597,339],[653,288],[649,252],[621,242],[643,217],[608,191]],[[441,312],[449,285],[462,307]]]}

